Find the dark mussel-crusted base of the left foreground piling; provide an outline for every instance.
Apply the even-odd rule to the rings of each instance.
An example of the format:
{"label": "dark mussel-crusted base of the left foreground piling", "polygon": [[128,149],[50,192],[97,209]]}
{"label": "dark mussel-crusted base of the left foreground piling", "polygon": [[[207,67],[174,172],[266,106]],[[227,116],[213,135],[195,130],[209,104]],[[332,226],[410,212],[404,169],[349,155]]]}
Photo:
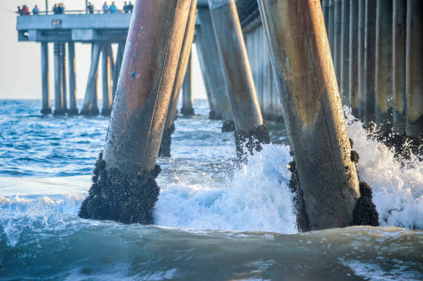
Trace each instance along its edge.
{"label": "dark mussel-crusted base of the left foreground piling", "polygon": [[106,170],[102,154],[95,163],[93,184],[82,202],[79,217],[93,220],[114,220],[124,224],[153,223],[153,209],[160,188],[156,177],[160,166],[153,171]]}

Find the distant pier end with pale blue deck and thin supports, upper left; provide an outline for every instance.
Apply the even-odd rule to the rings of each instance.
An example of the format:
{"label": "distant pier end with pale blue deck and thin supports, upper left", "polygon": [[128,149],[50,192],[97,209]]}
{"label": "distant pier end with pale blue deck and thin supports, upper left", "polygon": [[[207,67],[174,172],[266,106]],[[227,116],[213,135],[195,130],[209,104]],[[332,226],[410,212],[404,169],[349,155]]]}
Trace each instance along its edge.
{"label": "distant pier end with pale blue deck and thin supports, upper left", "polygon": [[[113,101],[113,89],[118,83],[120,62],[131,23],[131,13],[86,14],[86,11],[66,11],[66,14],[38,14],[17,17],[18,41],[41,43],[41,113],[52,113],[48,86],[48,43],[54,43],[55,61],[55,111],[54,115],[75,115],[75,43],[90,43],[91,67],[86,85],[84,107],[81,114],[97,115],[97,79],[100,54],[102,54],[102,114],[109,115]],[[118,43],[113,54],[112,43]],[[66,54],[67,45],[67,54]],[[67,59],[66,59],[67,57]],[[67,61],[67,64],[66,64]],[[67,81],[68,79],[68,81]],[[69,90],[67,95],[66,90]],[[69,102],[67,100],[69,97]]]}

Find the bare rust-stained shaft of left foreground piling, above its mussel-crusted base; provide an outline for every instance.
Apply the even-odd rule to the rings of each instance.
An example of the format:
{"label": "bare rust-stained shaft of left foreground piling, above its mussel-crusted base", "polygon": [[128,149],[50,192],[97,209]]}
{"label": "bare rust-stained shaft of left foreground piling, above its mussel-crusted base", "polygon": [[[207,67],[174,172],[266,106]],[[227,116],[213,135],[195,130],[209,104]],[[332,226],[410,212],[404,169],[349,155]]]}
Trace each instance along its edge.
{"label": "bare rust-stained shaft of left foreground piling, above its mussel-crusted base", "polygon": [[104,146],[106,168],[153,171],[190,0],[138,0]]}

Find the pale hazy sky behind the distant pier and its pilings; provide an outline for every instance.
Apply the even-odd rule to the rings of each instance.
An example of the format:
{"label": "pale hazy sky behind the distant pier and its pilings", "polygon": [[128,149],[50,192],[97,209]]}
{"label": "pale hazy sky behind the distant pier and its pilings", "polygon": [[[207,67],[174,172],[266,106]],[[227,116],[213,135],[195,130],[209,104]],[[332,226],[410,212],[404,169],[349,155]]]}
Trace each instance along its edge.
{"label": "pale hazy sky behind the distant pier and its pilings", "polygon": [[[91,2],[99,10],[104,3],[103,0],[92,0]],[[122,8],[124,0],[115,0],[114,2],[118,8]],[[49,0],[49,10],[54,3],[64,3],[67,10],[85,9],[85,0]],[[108,3],[110,4],[111,1]],[[36,4],[41,11],[46,9],[45,0],[0,0],[0,99],[41,99],[41,46],[40,43],[17,41],[17,14],[14,13],[17,6],[26,5],[32,10]],[[116,48],[114,49],[116,50]],[[76,43],[75,57],[77,98],[83,99],[91,61],[91,46]],[[50,99],[54,97],[53,69],[53,43],[50,43]],[[101,70],[99,77],[101,77]],[[99,98],[101,98],[100,79],[98,87]],[[206,97],[195,45],[193,48],[193,96],[194,99]]]}

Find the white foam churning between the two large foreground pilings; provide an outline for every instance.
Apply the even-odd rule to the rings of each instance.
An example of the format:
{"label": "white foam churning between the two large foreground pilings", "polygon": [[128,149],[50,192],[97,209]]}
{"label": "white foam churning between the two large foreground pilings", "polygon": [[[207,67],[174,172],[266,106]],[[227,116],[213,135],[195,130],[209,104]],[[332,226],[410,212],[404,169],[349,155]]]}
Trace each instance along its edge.
{"label": "white foam churning between the two large foreground pilings", "polygon": [[169,184],[156,204],[156,224],[191,229],[297,233],[288,189],[288,146],[265,145],[220,188]]}

